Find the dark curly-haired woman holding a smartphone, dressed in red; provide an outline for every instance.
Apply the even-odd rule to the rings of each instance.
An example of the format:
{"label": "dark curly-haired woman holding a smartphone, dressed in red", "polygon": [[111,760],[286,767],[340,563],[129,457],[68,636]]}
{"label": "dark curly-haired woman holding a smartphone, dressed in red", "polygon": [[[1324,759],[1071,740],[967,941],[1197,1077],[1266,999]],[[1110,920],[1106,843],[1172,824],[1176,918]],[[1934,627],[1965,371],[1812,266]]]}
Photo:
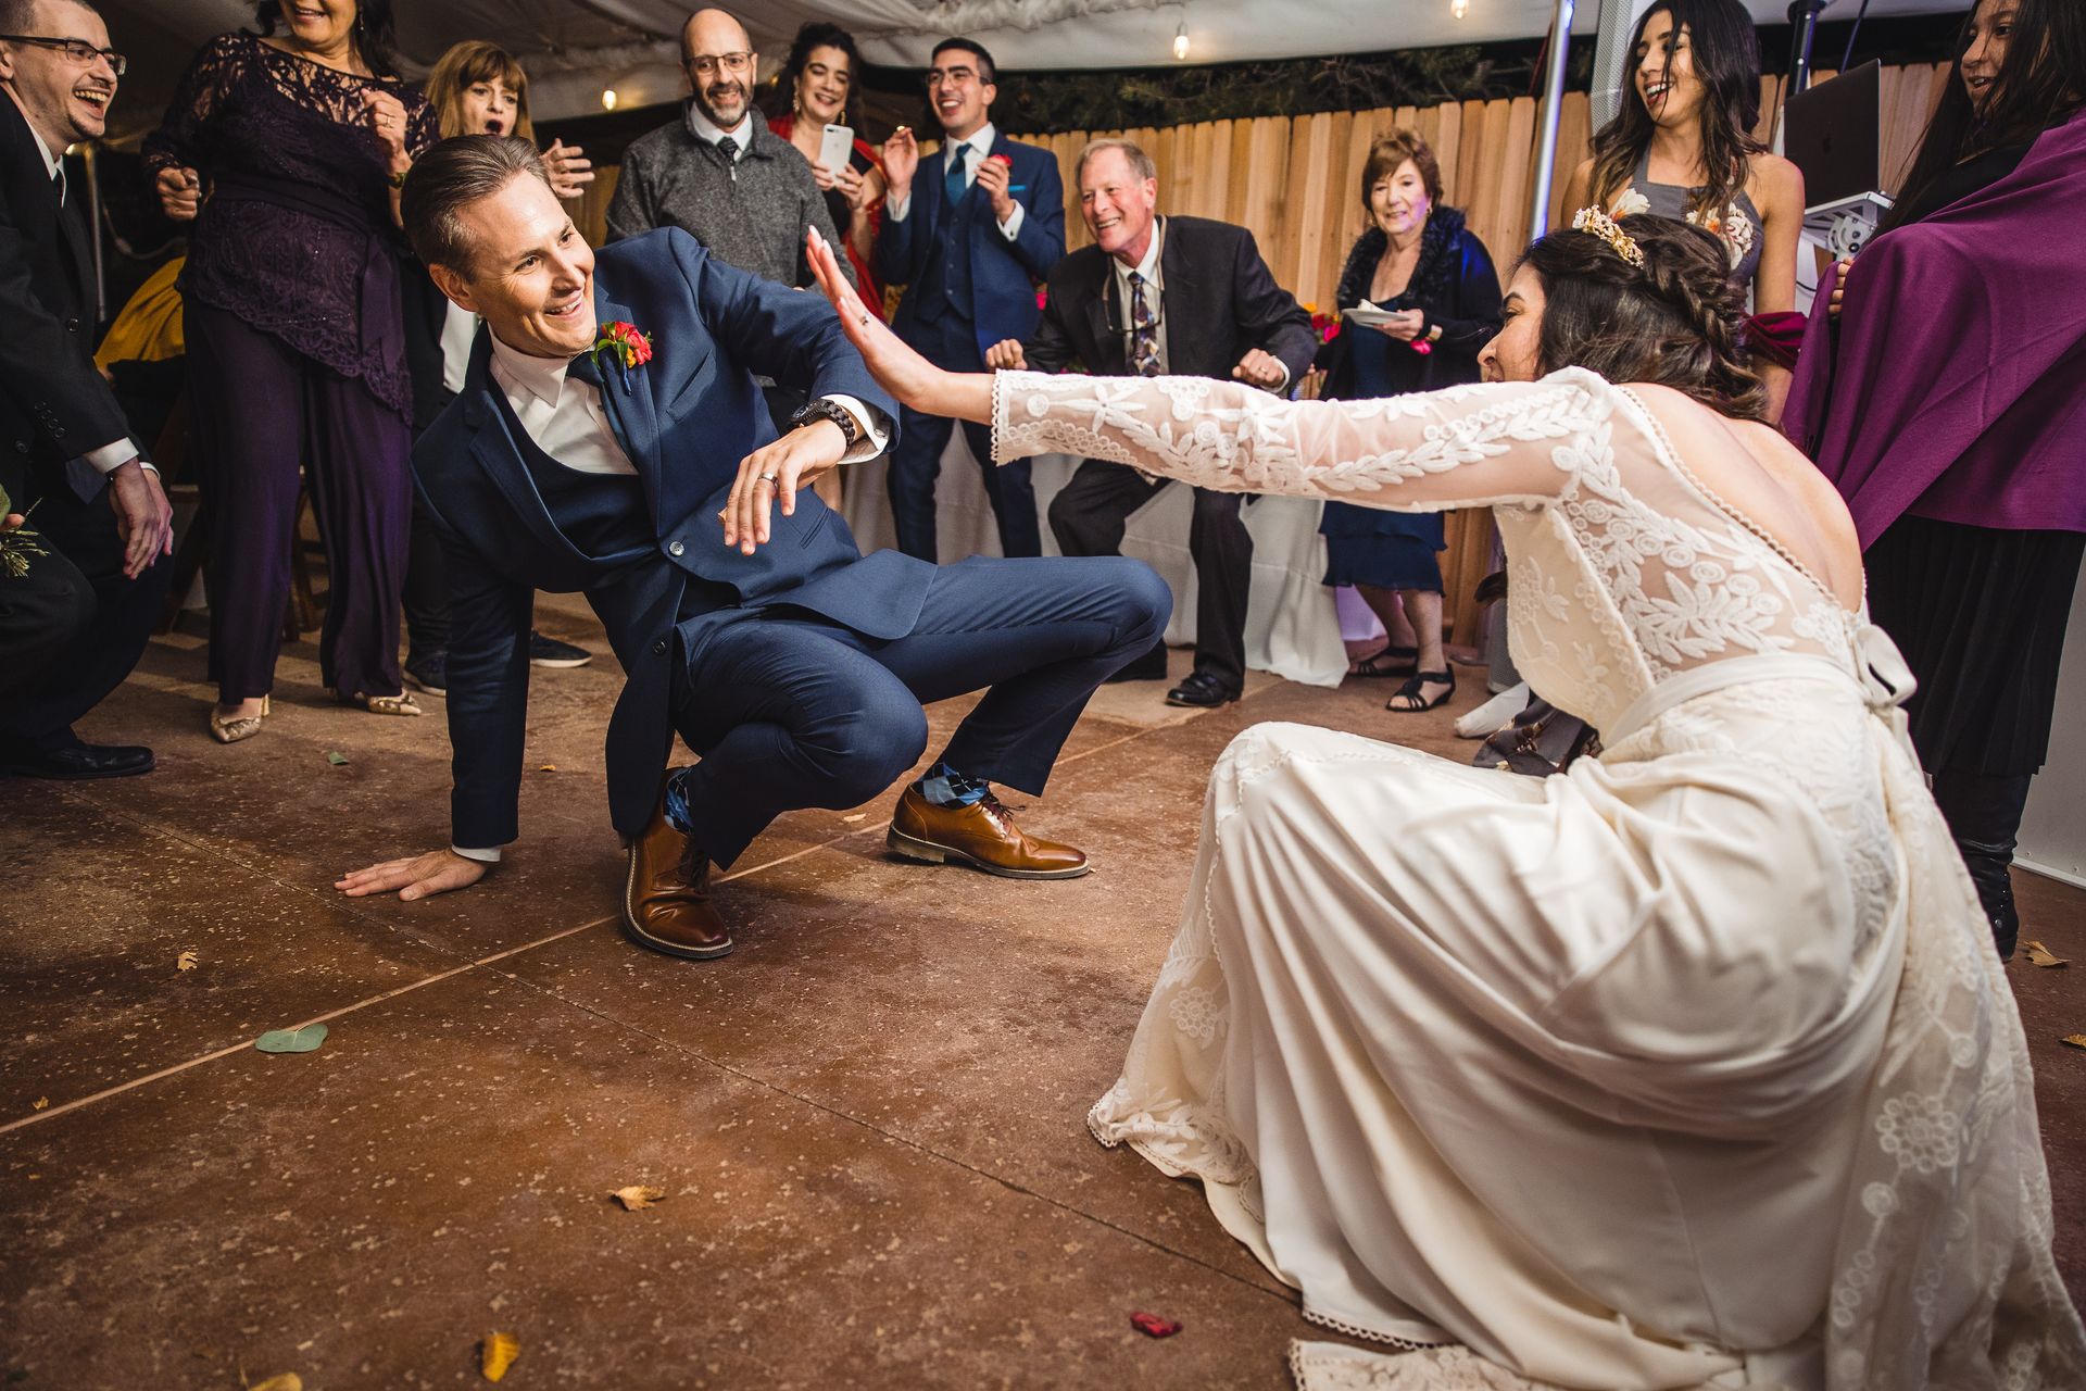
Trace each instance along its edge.
{"label": "dark curly-haired woman holding a smartphone, dressed in red", "polygon": [[[791,108],[789,115],[772,119],[768,129],[811,161],[811,177],[826,192],[826,213],[841,229],[855,282],[864,288],[862,302],[880,319],[884,288],[870,269],[870,259],[882,223],[884,171],[876,148],[862,138],[862,98],[855,90],[859,67],[862,54],[847,29],[816,21],[797,29],[789,63],[782,67],[782,88],[791,94]],[[830,161],[828,125],[849,131],[853,146],[845,161]]]}

